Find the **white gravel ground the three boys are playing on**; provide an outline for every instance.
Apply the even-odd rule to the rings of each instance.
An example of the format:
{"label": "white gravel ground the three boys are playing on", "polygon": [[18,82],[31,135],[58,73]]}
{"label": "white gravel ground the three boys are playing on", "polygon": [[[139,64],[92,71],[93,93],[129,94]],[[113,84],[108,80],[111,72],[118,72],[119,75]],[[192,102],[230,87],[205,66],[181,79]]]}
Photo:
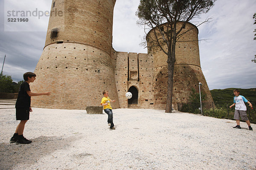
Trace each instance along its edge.
{"label": "white gravel ground the three boys are playing on", "polygon": [[0,109],[0,170],[256,170],[256,125],[151,109],[33,108],[24,136],[10,144],[19,121]]}

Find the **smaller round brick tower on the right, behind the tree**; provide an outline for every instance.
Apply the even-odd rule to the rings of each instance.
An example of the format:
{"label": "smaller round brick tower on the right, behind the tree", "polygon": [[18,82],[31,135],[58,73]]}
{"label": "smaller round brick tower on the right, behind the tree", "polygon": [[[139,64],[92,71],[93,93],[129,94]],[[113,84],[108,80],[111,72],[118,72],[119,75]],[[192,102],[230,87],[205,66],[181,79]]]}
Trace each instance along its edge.
{"label": "smaller round brick tower on the right, behind the tree", "polygon": [[[177,24],[177,29],[180,29],[183,22]],[[187,31],[187,32],[186,32]],[[185,33],[186,32],[186,33]],[[185,33],[185,34],[184,34]],[[187,23],[180,34],[183,34],[176,42],[175,48],[175,66],[173,78],[173,108],[177,109],[177,103],[189,101],[192,89],[199,93],[199,82],[202,83],[201,92],[206,94],[205,100],[213,102],[212,95],[209,91],[204,74],[201,70],[199,46],[198,46],[198,28]],[[160,109],[166,108],[167,96],[167,55],[163,53],[160,47],[156,47],[153,38],[153,30],[147,34],[148,53],[154,58],[154,98],[155,104]],[[165,46],[164,49],[167,50]]]}

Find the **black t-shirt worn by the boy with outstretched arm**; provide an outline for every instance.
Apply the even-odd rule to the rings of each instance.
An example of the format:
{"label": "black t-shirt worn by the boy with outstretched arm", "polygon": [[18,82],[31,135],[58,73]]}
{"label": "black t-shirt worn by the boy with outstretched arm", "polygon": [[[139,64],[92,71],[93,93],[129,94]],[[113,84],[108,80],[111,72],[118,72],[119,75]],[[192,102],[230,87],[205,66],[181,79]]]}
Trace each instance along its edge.
{"label": "black t-shirt worn by the boy with outstretched arm", "polygon": [[15,108],[29,108],[30,107],[31,97],[27,94],[26,91],[31,91],[30,87],[29,87],[29,83],[23,82],[20,85],[20,90],[19,90]]}

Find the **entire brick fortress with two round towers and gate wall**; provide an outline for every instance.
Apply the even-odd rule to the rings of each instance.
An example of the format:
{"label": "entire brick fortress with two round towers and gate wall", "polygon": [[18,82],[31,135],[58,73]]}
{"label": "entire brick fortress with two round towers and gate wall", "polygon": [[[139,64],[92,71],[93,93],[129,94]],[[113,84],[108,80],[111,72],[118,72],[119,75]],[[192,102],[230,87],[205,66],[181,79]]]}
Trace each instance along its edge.
{"label": "entire brick fortress with two round towers and gate wall", "polygon": [[[160,48],[148,54],[112,48],[113,9],[116,0],[52,0],[45,47],[35,68],[32,91],[51,96],[32,99],[40,108],[85,109],[99,106],[102,91],[116,99],[112,108],[166,108],[167,56]],[[191,23],[183,42],[176,44],[173,108],[188,102],[192,88],[213,102],[201,70],[198,29]],[[149,31],[148,35],[151,34]],[[147,35],[147,36],[148,36]],[[131,99],[125,94],[130,91]]]}

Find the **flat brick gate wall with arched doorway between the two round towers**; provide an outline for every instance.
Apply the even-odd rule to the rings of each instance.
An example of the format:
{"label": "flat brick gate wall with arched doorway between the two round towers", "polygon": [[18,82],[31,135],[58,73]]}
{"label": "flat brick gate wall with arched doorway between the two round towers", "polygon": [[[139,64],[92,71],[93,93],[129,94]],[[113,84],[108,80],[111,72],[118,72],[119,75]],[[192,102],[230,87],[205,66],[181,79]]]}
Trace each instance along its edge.
{"label": "flat brick gate wall with arched doorway between the two round towers", "polygon": [[[120,108],[154,108],[153,57],[149,54],[115,52],[116,89]],[[128,105],[125,94],[134,86],[138,90],[138,104]]]}

